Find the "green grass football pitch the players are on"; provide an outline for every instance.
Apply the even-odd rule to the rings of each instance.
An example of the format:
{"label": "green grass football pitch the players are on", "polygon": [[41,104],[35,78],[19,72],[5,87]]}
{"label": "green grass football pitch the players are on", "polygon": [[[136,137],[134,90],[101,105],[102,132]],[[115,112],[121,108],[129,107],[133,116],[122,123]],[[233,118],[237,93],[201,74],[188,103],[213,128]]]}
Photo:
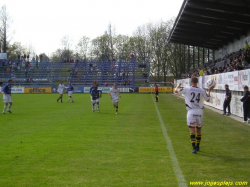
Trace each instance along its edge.
{"label": "green grass football pitch the players are on", "polygon": [[89,94],[74,94],[74,103],[66,94],[64,103],[58,94],[13,94],[12,114],[0,115],[0,186],[250,186],[250,126],[205,109],[192,154],[183,99],[121,96],[116,115],[107,94],[100,113]]}

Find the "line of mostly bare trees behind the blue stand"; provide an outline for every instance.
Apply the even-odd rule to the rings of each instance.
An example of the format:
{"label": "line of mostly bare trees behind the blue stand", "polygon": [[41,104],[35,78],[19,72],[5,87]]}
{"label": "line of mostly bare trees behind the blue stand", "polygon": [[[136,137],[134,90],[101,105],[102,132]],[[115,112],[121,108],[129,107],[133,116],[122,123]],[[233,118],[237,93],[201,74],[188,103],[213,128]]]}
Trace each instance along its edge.
{"label": "line of mostly bare trees behind the blue stand", "polygon": [[[73,46],[70,36],[61,39],[62,47],[50,55],[50,61],[59,62],[64,59],[75,60],[103,60],[129,59],[131,54],[136,55],[137,61],[146,62],[150,59],[150,74],[155,81],[167,81],[168,76],[181,78],[183,73],[197,68],[197,63],[190,64],[190,59],[197,61],[195,56],[190,57],[197,48],[188,48],[181,44],[168,43],[167,39],[173,28],[175,19],[148,23],[135,29],[132,36],[117,34],[115,27],[108,25],[101,36],[90,39],[82,36]],[[8,58],[14,58],[21,53],[34,53],[34,47],[24,47],[20,42],[11,43],[11,17],[3,6],[0,11],[0,40],[2,52],[7,52]],[[45,55],[43,53],[43,55]]]}

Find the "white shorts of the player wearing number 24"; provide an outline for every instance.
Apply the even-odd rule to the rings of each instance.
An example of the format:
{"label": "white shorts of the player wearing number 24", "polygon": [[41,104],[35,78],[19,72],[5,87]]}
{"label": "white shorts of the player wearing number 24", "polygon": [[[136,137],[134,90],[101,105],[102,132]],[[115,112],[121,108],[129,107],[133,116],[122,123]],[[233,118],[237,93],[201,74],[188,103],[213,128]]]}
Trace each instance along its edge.
{"label": "white shorts of the player wearing number 24", "polygon": [[203,125],[203,114],[202,109],[191,109],[187,113],[187,125],[191,127],[202,127]]}

